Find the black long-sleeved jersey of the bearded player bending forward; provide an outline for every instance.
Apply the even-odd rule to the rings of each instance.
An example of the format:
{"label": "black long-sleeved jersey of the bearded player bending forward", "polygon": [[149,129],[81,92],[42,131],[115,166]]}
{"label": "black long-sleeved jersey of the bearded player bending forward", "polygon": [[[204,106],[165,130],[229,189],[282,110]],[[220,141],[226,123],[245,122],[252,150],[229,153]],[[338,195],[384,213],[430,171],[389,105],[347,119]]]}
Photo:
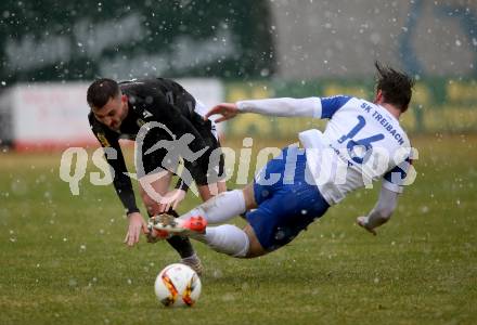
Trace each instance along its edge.
{"label": "black long-sleeved jersey of the bearded player bending forward", "polygon": [[[204,140],[197,129],[210,123],[207,125],[208,121],[204,121],[202,116],[194,112],[195,99],[172,80],[163,78],[133,80],[120,82],[119,88],[123,94],[128,96],[129,110],[118,132],[101,123],[92,112],[90,112],[88,118],[91,130],[101,145],[113,147],[117,152],[116,159],[111,159],[107,155],[106,159],[115,170],[113,183],[116,193],[128,213],[130,213],[137,212],[139,209],[136,205],[131,180],[127,176],[127,168],[118,140],[136,140],[141,126],[150,121],[157,121],[165,125],[178,139],[186,133],[194,135],[194,140],[189,144],[189,147],[193,152],[199,152],[207,146],[207,141]],[[168,136],[160,129],[157,131],[153,129],[150,133],[144,139],[143,153],[158,140]],[[162,164],[162,159],[155,158],[154,155],[147,155],[146,158],[143,160],[145,172],[154,170]],[[202,155],[195,161],[196,165],[202,167],[201,170],[204,170],[204,173],[207,172],[208,160],[206,158],[207,155]],[[180,180],[179,183],[183,185],[182,188],[186,190],[184,182]]]}

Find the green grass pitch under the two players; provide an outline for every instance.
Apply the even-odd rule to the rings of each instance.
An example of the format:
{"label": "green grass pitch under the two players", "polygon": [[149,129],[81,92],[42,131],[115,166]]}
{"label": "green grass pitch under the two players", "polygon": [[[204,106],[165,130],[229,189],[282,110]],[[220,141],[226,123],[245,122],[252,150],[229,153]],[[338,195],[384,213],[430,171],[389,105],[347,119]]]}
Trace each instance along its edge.
{"label": "green grass pitch under the two players", "polygon": [[[266,257],[196,244],[206,272],[191,309],[155,300],[156,274],[178,257],[164,243],[121,244],[112,185],[86,178],[72,196],[60,154],[0,154],[0,324],[476,324],[477,136],[413,144],[418,177],[376,237],[354,225],[374,188]],[[189,197],[180,212],[197,203]]]}

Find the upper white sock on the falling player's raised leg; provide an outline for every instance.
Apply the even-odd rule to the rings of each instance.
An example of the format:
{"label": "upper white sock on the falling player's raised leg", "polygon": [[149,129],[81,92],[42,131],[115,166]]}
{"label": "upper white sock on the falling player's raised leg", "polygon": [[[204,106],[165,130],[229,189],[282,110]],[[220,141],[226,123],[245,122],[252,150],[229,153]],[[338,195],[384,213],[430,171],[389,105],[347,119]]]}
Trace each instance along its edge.
{"label": "upper white sock on the falling player's raised leg", "polygon": [[202,216],[208,223],[221,223],[243,212],[245,212],[244,193],[241,190],[234,190],[214,196],[180,218]]}

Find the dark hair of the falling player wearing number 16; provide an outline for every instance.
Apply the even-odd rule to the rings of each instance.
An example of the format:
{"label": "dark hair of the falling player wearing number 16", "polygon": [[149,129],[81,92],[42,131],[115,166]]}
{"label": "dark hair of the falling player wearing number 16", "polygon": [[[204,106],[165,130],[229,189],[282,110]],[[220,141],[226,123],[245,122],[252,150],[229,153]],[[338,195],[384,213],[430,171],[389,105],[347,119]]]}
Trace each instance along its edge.
{"label": "dark hair of the falling player wearing number 16", "polygon": [[383,92],[385,103],[395,105],[404,113],[411,102],[414,80],[402,72],[383,66],[377,61],[374,66],[377,69],[376,91]]}

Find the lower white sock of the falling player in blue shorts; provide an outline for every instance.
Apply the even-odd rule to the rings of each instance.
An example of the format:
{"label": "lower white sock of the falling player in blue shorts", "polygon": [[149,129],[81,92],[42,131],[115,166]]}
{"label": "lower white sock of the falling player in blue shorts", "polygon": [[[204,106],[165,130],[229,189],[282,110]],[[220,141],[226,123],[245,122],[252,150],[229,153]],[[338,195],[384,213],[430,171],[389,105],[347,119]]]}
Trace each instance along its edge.
{"label": "lower white sock of the falling player in blue shorts", "polygon": [[207,226],[205,234],[192,234],[191,237],[206,244],[215,251],[236,258],[246,257],[248,252],[247,234],[233,224]]}

